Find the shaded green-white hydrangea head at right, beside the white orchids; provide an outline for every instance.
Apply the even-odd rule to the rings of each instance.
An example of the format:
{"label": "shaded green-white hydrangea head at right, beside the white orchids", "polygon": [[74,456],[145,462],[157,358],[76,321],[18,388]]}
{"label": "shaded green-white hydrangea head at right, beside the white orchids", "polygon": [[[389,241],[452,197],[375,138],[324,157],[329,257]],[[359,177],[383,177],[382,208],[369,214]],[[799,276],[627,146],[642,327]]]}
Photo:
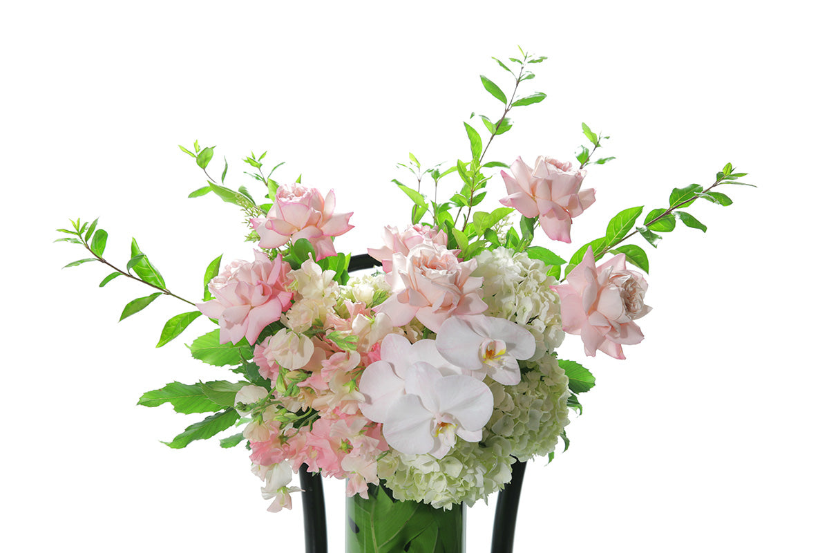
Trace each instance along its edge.
{"label": "shaded green-white hydrangea head at right, beside the white orchids", "polygon": [[520,461],[555,449],[561,431],[570,422],[567,398],[569,379],[555,357],[520,361],[521,382],[503,386],[488,381],[495,398],[492,418],[484,429],[507,439],[511,454]]}

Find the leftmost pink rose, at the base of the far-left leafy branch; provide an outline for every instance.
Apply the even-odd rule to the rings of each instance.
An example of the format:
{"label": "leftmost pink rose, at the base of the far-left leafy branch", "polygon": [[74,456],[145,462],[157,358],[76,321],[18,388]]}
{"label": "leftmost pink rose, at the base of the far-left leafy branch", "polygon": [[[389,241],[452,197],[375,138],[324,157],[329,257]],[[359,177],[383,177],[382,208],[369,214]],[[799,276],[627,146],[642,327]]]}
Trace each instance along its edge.
{"label": "leftmost pink rose, at the base of the far-left leafy branch", "polygon": [[271,261],[255,251],[253,263],[234,261],[225,267],[207,288],[216,299],[196,303],[207,317],[219,321],[219,343],[239,342],[243,337],[255,344],[259,332],[279,317],[291,304],[293,292],[287,288],[291,266],[277,255]]}

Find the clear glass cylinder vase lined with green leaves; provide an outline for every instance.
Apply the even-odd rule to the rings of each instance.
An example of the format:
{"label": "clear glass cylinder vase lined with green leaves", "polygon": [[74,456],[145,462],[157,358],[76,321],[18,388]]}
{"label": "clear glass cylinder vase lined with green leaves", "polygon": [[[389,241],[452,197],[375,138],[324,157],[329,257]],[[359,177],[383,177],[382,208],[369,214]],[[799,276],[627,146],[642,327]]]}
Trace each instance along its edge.
{"label": "clear glass cylinder vase lined with green leaves", "polygon": [[451,510],[397,501],[369,485],[368,499],[348,497],[346,553],[465,553],[465,506]]}

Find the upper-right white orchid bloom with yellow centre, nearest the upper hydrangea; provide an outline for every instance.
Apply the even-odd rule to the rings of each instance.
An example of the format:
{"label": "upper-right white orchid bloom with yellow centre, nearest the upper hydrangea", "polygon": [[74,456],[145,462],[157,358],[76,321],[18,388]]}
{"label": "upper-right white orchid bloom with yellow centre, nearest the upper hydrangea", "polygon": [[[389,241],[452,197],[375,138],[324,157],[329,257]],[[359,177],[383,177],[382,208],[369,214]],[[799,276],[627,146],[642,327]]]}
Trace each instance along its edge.
{"label": "upper-right white orchid bloom with yellow centre, nearest the upper hydrangea", "polygon": [[493,381],[514,386],[521,381],[518,360],[536,352],[536,338],[504,318],[474,315],[450,317],[435,338],[438,352],[471,374],[486,374]]}

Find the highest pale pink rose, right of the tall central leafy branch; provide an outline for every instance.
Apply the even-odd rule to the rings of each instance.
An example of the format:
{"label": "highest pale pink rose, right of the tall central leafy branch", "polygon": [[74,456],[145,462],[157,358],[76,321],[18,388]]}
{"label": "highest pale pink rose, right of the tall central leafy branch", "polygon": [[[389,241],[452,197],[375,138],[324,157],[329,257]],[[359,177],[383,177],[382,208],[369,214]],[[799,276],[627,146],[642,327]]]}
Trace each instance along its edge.
{"label": "highest pale pink rose, right of the tall central leafy branch", "polygon": [[579,190],[587,172],[557,159],[539,157],[531,170],[521,158],[511,165],[512,176],[502,171],[509,196],[501,203],[526,217],[539,217],[541,229],[553,240],[570,244],[570,225],[596,201],[593,188]]}

